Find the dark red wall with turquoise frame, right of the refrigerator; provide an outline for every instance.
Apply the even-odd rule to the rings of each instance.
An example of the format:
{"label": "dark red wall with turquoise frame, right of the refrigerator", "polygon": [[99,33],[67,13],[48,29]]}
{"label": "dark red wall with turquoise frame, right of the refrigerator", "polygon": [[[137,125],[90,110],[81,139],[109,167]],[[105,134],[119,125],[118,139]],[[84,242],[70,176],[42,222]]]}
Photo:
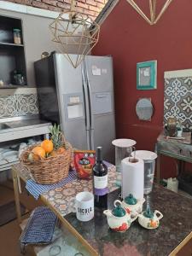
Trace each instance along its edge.
{"label": "dark red wall with turquoise frame, right of the refrigerator", "polygon": [[[136,2],[148,11],[148,0]],[[137,140],[137,149],[154,150],[163,125],[164,72],[192,68],[192,1],[172,1],[158,23],[150,26],[129,3],[120,0],[103,22],[93,54],[113,56],[117,137]],[[137,90],[137,62],[152,60],[157,60],[157,90]],[[140,97],[152,99],[151,122],[137,119]],[[162,168],[164,177],[175,175],[173,161],[164,158]]]}

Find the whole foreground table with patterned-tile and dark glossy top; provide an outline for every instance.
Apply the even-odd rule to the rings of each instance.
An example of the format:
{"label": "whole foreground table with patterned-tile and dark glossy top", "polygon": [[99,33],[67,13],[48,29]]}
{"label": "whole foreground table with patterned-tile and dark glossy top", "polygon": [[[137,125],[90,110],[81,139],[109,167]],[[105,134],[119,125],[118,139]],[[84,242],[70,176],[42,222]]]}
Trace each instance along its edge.
{"label": "whole foreground table with patterned-tile and dark glossy top", "polygon": [[[20,164],[13,166],[12,171],[18,210],[17,179],[21,177],[26,182],[30,176]],[[115,167],[109,167],[108,173],[108,208],[112,208],[120,190],[115,186]],[[192,200],[155,183],[151,193],[152,207],[164,215],[157,230],[145,230],[135,221],[125,233],[116,233],[108,228],[107,218],[99,209],[96,209],[95,218],[90,222],[79,222],[73,211],[74,197],[80,191],[91,189],[91,181],[76,180],[40,196],[44,205],[55,212],[64,227],[78,238],[90,255],[175,255],[175,250],[192,238]]]}

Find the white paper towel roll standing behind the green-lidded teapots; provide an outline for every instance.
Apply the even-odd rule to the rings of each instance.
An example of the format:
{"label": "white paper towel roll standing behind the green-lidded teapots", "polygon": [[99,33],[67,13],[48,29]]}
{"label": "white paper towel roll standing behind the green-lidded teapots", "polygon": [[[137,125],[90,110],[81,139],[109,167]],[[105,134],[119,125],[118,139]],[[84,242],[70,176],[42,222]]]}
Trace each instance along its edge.
{"label": "white paper towel roll standing behind the green-lidded teapots", "polygon": [[137,162],[130,162],[129,160],[130,157],[127,157],[121,161],[121,195],[123,199],[129,194],[137,199],[143,198],[144,162],[139,158],[137,158]]}

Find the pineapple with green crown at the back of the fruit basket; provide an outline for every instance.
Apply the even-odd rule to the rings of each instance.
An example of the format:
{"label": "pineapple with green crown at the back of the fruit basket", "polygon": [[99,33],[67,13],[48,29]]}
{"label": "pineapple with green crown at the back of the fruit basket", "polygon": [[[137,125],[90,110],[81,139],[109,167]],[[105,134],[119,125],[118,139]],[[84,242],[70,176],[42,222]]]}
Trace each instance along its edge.
{"label": "pineapple with green crown at the back of the fruit basket", "polygon": [[60,125],[53,125],[52,128],[49,130],[50,132],[50,139],[54,144],[54,148],[65,148],[65,143],[64,143],[64,136],[61,132],[61,127]]}

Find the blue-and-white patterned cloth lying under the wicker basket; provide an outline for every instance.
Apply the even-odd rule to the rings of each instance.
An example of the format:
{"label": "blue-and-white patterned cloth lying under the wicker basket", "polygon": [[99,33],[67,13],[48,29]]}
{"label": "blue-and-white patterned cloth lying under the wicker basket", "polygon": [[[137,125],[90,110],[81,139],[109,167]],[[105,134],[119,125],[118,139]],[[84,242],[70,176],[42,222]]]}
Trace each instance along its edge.
{"label": "blue-and-white patterned cloth lying under the wicker basket", "polygon": [[68,177],[65,177],[59,183],[50,184],[50,185],[43,185],[35,183],[32,179],[27,180],[26,182],[26,189],[29,193],[38,200],[38,197],[45,192],[48,192],[50,189],[56,189],[66,185],[67,183],[73,182],[73,180],[77,179],[76,171],[73,170],[68,173]]}

